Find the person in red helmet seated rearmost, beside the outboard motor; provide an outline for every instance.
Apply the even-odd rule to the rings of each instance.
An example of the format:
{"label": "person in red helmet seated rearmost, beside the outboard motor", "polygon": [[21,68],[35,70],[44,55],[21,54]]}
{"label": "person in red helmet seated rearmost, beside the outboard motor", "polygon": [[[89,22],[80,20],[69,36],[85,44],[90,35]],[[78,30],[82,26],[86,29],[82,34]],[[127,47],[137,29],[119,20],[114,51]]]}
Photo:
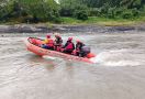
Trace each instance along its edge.
{"label": "person in red helmet seated rearmost, beside the outboard motor", "polygon": [[82,54],[82,46],[85,46],[85,44],[81,41],[77,40],[76,41],[76,50],[74,51],[74,55],[83,56],[83,55],[81,55]]}

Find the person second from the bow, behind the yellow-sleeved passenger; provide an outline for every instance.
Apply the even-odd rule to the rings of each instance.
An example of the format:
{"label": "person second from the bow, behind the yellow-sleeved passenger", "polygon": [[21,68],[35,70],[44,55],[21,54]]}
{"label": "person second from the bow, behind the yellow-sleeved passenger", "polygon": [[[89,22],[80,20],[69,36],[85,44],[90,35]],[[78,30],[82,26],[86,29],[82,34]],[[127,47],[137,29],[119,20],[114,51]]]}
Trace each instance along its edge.
{"label": "person second from the bow, behind the yellow-sleeved passenger", "polygon": [[54,50],[59,52],[62,47],[62,43],[63,43],[62,36],[58,33],[56,33],[54,41]]}

